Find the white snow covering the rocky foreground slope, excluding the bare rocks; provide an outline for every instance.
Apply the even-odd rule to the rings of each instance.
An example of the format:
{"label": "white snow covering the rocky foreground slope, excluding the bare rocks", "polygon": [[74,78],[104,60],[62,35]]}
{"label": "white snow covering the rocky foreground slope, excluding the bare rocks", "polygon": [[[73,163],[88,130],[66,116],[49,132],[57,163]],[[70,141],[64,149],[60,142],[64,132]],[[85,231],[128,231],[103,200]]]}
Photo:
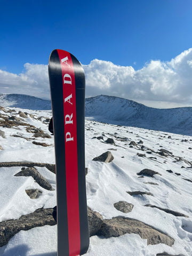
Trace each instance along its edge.
{"label": "white snow covering the rocky foreground slope, excluding the bare rocks", "polygon": [[[20,117],[18,112],[21,109],[5,108],[5,110],[9,109],[16,111],[15,113],[5,113],[0,110],[0,114]],[[34,117],[28,115],[27,118],[23,118],[24,122],[49,133],[48,124],[44,121],[51,117],[51,111],[27,109],[22,109],[22,111],[34,115]],[[42,118],[37,119],[38,117]],[[0,123],[1,121],[3,118],[0,118]],[[35,138],[36,142],[45,142],[50,145],[42,147],[34,145],[33,140],[25,139],[33,138],[34,135],[34,133],[26,131],[26,126],[19,125],[9,128],[0,126],[0,130],[5,132],[5,138],[0,137],[0,145],[3,148],[0,150],[1,162],[23,162],[23,166],[25,166],[25,162],[54,163],[53,137],[51,139]],[[92,139],[99,136],[103,136],[103,140]],[[113,138],[116,145],[106,143],[107,138]],[[130,147],[131,141],[137,144]],[[139,141],[142,141],[142,145],[145,146],[143,151],[138,144]],[[171,236],[175,242],[170,247],[164,244],[147,245],[147,240],[141,239],[136,234],[113,238],[93,236],[90,238],[90,247],[85,255],[154,256],[163,252],[171,255],[192,255],[192,183],[190,182],[192,181],[192,169],[187,168],[191,166],[190,162],[192,162],[192,149],[190,148],[192,148],[192,137],[190,136],[110,125],[86,119],[87,205],[102,214],[103,219],[121,215],[145,222]],[[168,150],[172,154],[161,156],[157,154],[159,149]],[[114,156],[111,163],[92,161],[94,157],[106,151],[111,151]],[[138,156],[138,153],[146,156]],[[155,174],[154,177],[139,178],[137,173],[143,169],[151,169],[161,175]],[[25,189],[39,188],[39,185],[32,177],[14,177],[14,174],[20,170],[21,167],[0,168],[0,222],[18,219],[21,215],[34,212],[41,207],[49,208],[56,204],[55,190],[48,191],[41,188],[42,195],[37,199],[30,199]],[[37,167],[37,170],[55,189],[55,174],[45,167]],[[167,170],[172,170],[173,173],[167,172]],[[180,173],[180,175],[175,173]],[[147,191],[154,196],[131,196],[126,191]],[[116,210],[114,203],[118,201],[132,203],[133,210],[129,213]],[[162,210],[146,207],[146,204],[177,211],[188,215],[189,218],[175,217]],[[57,226],[20,231],[10,239],[7,245],[0,248],[0,255],[56,256]]]}

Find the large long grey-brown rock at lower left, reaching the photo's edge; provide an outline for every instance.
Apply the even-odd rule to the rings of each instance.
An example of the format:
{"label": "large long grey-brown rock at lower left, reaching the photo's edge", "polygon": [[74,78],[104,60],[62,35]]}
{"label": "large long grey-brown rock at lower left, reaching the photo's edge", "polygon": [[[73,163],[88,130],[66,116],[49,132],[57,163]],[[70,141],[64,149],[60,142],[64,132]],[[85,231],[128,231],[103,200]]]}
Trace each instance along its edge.
{"label": "large long grey-brown rock at lower left, reaching the photo's edge", "polygon": [[45,225],[56,224],[52,216],[53,209],[38,209],[33,213],[23,215],[18,220],[8,220],[0,223],[0,247],[6,245],[11,237],[21,230],[29,230]]}

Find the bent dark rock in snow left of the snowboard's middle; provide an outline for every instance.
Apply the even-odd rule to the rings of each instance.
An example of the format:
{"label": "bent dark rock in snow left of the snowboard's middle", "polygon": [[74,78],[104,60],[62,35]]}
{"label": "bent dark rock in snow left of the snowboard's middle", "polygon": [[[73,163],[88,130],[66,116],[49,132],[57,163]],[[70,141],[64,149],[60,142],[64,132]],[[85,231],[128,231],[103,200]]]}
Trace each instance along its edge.
{"label": "bent dark rock in snow left of the snowboard's middle", "polygon": [[28,167],[14,176],[19,177],[19,176],[31,176],[34,178],[34,180],[38,183],[39,186],[41,186],[44,189],[47,190],[54,190],[51,186],[51,184],[34,168],[34,167]]}

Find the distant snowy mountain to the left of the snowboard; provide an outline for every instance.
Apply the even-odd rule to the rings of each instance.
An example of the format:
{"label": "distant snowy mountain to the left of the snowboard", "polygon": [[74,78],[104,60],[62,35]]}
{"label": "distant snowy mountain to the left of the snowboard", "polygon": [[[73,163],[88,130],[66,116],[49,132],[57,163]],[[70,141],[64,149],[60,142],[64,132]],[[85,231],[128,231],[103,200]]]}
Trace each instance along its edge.
{"label": "distant snowy mountain to the left of the snowboard", "polygon": [[51,109],[51,101],[39,99],[26,94],[0,94],[0,106],[33,110]]}

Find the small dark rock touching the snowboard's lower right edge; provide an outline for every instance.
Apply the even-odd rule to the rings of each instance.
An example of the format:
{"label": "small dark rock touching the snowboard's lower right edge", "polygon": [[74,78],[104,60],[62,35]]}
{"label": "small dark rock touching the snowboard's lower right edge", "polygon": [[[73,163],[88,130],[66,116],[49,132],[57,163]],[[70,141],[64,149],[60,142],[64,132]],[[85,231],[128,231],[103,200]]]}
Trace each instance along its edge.
{"label": "small dark rock touching the snowboard's lower right edge", "polygon": [[103,218],[99,212],[92,211],[89,206],[87,206],[87,214],[89,220],[90,236],[94,236],[98,233],[103,222]]}

